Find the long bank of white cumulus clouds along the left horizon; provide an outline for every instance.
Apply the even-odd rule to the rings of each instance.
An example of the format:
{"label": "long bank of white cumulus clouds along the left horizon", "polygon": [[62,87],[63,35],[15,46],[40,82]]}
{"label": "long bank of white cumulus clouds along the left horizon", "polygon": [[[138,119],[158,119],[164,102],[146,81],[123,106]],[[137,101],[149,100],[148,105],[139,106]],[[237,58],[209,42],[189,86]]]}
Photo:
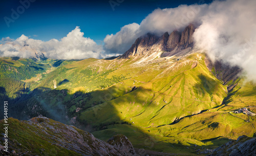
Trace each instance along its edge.
{"label": "long bank of white cumulus clouds along the left horizon", "polygon": [[[2,41],[5,44],[0,46],[0,56],[28,58],[35,56],[35,54],[44,53],[46,57],[53,59],[101,58],[102,46],[97,45],[90,38],[83,37],[83,35],[84,33],[79,27],[76,27],[60,40],[51,39],[44,42],[28,38],[25,35],[16,40],[11,40],[9,37],[3,38]],[[25,44],[29,46],[25,46]]]}

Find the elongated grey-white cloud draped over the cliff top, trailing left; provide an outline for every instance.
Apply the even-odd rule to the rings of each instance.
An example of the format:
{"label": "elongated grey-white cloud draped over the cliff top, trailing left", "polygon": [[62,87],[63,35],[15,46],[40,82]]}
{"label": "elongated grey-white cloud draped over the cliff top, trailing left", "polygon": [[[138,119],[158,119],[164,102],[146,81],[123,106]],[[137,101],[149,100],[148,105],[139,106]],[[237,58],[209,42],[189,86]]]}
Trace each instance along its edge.
{"label": "elongated grey-white cloud draped over the cliff top, trailing left", "polygon": [[134,41],[146,34],[162,35],[174,30],[182,30],[190,23],[200,23],[200,17],[206,12],[207,5],[180,5],[177,8],[156,9],[139,24],[125,25],[115,35],[106,35],[104,50],[109,53],[123,54]]}

